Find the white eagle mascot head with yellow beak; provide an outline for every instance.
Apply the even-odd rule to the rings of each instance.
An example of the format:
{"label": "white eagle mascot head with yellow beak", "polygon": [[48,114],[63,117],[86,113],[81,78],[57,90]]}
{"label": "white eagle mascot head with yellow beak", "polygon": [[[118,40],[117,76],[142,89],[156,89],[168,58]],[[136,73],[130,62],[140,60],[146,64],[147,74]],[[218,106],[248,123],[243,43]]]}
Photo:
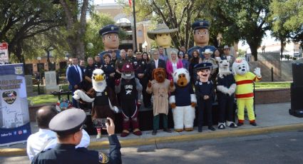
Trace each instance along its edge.
{"label": "white eagle mascot head with yellow beak", "polygon": [[103,92],[106,88],[106,74],[102,69],[95,69],[91,77],[93,89],[98,92]]}

